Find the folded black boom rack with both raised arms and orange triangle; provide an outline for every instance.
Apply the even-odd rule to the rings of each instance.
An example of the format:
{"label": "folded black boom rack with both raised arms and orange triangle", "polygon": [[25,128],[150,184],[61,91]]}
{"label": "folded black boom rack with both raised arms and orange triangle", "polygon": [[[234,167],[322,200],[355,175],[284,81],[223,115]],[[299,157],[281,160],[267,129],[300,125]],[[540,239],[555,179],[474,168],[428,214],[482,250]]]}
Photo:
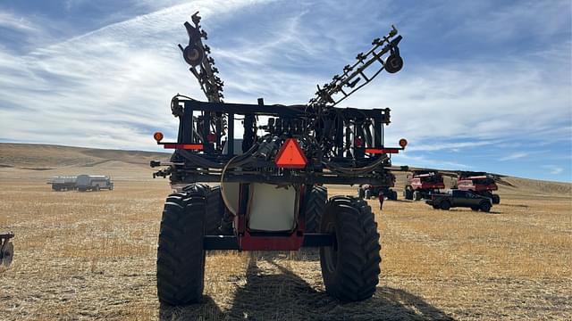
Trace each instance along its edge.
{"label": "folded black boom rack with both raised arms and orange triangle", "polygon": [[[401,139],[400,147],[384,144],[383,127],[390,123],[390,109],[334,106],[371,82],[381,70],[394,73],[401,69],[403,60],[398,48],[401,36],[397,35],[397,29],[374,39],[373,48],[359,53],[357,62],[346,66],[343,74],[334,76],[330,84],[318,86],[316,98],[309,103],[265,105],[259,98],[255,105],[223,103],[223,81],[214,75],[218,70],[207,55],[210,49],[203,44],[206,32],[199,25],[198,12],[191,20],[193,24],[184,24],[189,45],[179,47],[208,102],[181,95],[172,98],[172,114],[180,120],[177,140],[162,142],[163,135],[156,133],[159,134],[156,141],[176,151],[171,161],[163,164],[169,169],[156,172],[156,176],[170,176],[173,185],[223,180],[309,185],[393,184],[394,177],[387,171],[391,154],[403,150],[407,141]],[[365,70],[372,66],[378,68],[373,76],[367,76]],[[241,128],[235,128],[236,121],[240,121]],[[290,155],[292,160],[294,157],[304,160],[296,162],[296,166],[290,156],[282,157],[284,148],[292,144],[298,151],[298,156]],[[162,164],[152,162],[151,166]]]}

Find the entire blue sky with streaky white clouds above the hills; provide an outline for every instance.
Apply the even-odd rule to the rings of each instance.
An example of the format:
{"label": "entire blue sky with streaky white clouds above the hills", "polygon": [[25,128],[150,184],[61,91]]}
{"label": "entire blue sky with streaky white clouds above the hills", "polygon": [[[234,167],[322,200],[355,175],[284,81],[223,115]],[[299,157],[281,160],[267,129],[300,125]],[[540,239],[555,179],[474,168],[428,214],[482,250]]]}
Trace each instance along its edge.
{"label": "entire blue sky with streaky white clouds above the hills", "polygon": [[391,25],[403,70],[341,103],[391,108],[394,165],[572,181],[567,1],[0,1],[0,142],[159,150],[200,12],[225,101],[307,103]]}

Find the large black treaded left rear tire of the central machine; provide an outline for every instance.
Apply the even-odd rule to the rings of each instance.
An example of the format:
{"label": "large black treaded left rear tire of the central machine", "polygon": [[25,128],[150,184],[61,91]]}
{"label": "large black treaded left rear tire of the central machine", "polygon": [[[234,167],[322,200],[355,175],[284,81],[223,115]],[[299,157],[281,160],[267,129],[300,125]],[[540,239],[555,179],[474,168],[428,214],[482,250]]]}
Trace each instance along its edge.
{"label": "large black treaded left rear tire of the central machine", "polygon": [[157,296],[163,303],[186,305],[202,298],[205,209],[200,193],[172,193],[164,203],[157,249]]}

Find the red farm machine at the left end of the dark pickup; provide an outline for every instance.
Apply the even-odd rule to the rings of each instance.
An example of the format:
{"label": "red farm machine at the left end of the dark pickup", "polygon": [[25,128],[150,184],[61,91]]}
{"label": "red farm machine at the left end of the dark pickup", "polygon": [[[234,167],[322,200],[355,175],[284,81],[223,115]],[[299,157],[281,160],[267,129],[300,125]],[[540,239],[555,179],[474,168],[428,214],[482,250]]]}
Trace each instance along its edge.
{"label": "red farm machine at the left end of the dark pickup", "polygon": [[420,201],[431,198],[433,193],[440,193],[443,188],[443,177],[438,171],[413,170],[407,176],[403,196],[406,200]]}

